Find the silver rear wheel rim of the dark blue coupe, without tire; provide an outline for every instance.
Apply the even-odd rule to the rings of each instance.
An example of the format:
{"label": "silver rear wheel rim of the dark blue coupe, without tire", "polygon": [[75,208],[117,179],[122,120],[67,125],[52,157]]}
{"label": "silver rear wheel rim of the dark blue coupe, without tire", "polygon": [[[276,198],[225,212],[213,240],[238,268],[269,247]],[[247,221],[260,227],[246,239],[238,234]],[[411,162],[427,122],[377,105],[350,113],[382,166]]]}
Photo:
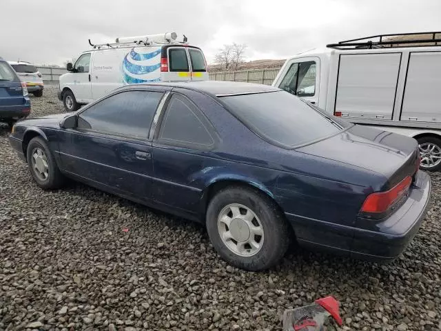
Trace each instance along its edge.
{"label": "silver rear wheel rim of the dark blue coupe, without tire", "polygon": [[245,205],[230,203],[218,216],[220,239],[240,257],[252,257],[263,246],[263,226],[256,213]]}

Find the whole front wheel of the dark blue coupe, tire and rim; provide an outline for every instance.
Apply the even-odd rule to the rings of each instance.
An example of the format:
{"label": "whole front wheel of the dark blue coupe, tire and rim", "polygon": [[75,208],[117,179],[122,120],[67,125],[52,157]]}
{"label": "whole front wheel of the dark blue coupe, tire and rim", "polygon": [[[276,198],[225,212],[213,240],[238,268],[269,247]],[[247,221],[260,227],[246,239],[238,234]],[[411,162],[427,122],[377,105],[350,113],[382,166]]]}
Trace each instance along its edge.
{"label": "whole front wheel of the dark blue coupe, tire and rim", "polygon": [[48,145],[43,139],[34,137],[30,140],[27,159],[30,174],[40,188],[54,190],[63,185],[63,174],[61,174]]}

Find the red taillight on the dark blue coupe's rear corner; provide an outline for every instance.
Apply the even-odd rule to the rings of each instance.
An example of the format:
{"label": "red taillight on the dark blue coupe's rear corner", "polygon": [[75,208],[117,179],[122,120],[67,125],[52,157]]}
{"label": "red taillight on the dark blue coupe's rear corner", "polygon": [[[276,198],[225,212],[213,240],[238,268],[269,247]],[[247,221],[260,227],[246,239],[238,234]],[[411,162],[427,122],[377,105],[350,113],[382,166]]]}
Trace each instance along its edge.
{"label": "red taillight on the dark blue coupe's rear corner", "polygon": [[395,201],[400,199],[409,189],[411,177],[404,178],[398,185],[387,192],[369,194],[363,203],[362,212],[385,212]]}

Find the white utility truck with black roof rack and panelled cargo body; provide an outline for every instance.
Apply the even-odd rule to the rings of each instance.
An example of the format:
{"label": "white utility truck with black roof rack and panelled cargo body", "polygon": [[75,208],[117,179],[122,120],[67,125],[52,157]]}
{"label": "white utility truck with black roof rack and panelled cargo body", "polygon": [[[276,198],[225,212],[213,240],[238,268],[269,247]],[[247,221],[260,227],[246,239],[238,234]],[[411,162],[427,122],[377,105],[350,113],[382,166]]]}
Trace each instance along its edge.
{"label": "white utility truck with black roof rack and panelled cargo body", "polygon": [[272,85],[352,123],[413,137],[421,168],[441,168],[441,32],[382,34],[297,54]]}

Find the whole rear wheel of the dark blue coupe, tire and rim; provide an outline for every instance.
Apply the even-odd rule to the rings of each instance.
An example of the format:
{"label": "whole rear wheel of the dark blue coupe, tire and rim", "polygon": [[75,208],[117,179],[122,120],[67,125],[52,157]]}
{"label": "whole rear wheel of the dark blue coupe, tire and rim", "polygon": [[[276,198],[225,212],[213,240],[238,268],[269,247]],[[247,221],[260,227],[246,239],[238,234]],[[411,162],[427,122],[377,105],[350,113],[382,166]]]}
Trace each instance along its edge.
{"label": "whole rear wheel of the dark blue coupe, tire and rim", "polygon": [[206,221],[215,250],[238,268],[270,268],[289,245],[289,225],[278,206],[252,188],[220,190],[209,202]]}

